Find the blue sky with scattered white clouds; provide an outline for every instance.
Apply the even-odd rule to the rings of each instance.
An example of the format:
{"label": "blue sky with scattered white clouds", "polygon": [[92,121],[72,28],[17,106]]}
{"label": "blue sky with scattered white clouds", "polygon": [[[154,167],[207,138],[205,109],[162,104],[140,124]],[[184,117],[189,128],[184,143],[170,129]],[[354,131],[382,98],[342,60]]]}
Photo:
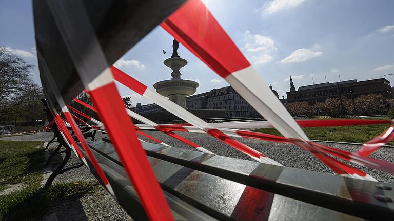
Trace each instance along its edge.
{"label": "blue sky with scattered white clouds", "polygon": [[[271,83],[279,96],[289,91],[288,76],[295,87],[341,80],[366,80],[394,73],[394,1],[204,0],[235,44]],[[34,52],[34,29],[30,1],[4,1],[0,8],[0,45],[36,65],[32,71],[39,83]],[[152,85],[170,78],[163,61],[171,55],[172,37],[155,28],[126,53],[117,66]],[[163,54],[162,50],[167,51]],[[188,60],[183,79],[200,83],[197,93],[226,86],[182,45],[179,55]],[[394,85],[394,75],[386,76]],[[119,86],[133,103],[150,103]]]}

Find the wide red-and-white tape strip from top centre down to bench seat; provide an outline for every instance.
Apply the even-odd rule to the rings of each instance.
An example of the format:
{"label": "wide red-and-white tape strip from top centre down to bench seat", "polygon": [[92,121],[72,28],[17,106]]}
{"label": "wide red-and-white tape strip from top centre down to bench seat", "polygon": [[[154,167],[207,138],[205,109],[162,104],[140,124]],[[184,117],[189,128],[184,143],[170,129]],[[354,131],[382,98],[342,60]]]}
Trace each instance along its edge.
{"label": "wide red-and-white tape strip from top centre down to bench seat", "polygon": [[[282,135],[302,141],[295,142],[295,144],[308,150],[334,171],[343,170],[340,164],[331,162],[328,156],[308,143],[309,139],[301,127],[286,111],[278,98],[273,95],[266,82],[251,67],[201,1],[188,1],[169,16],[161,26],[205,62],[216,74],[224,78]],[[204,130],[210,131],[209,129]]]}

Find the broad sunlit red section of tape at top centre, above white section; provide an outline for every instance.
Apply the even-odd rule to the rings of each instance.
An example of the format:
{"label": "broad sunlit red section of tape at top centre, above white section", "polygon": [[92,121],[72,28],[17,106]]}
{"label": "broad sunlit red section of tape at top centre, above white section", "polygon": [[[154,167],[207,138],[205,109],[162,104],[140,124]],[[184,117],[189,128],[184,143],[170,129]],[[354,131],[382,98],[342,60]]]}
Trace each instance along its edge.
{"label": "broad sunlit red section of tape at top centre, above white section", "polygon": [[200,0],[188,1],[161,26],[223,78],[250,66]]}

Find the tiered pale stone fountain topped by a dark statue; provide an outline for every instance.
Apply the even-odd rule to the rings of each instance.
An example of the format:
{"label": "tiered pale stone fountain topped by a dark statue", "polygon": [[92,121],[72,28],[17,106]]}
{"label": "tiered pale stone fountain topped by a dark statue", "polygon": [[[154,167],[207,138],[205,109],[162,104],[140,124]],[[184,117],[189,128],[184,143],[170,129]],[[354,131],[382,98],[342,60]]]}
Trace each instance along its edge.
{"label": "tiered pale stone fountain topped by a dark statue", "polygon": [[186,96],[197,90],[199,83],[181,79],[181,68],[185,67],[187,60],[178,55],[179,42],[174,39],[172,43],[172,56],[164,61],[164,65],[172,69],[170,80],[156,82],[153,87],[156,92],[168,97],[172,102],[186,108]]}

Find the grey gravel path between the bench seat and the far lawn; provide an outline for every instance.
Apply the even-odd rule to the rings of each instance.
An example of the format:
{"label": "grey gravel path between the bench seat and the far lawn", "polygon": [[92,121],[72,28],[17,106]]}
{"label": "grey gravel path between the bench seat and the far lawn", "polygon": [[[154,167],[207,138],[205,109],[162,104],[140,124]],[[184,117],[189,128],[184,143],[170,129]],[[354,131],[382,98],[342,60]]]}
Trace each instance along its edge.
{"label": "grey gravel path between the bench seat and the far lawn", "polygon": [[[144,132],[171,146],[193,149],[187,144],[181,143],[178,140],[175,140],[174,138],[171,138],[163,134],[162,132],[159,131],[144,131]],[[191,132],[177,132],[177,134],[193,141],[194,143],[201,145],[202,147],[218,155],[253,161],[253,159],[249,158],[248,156],[241,153],[240,151],[230,147],[229,145],[207,134],[196,134]],[[140,136],[140,139],[151,142],[149,139],[144,138],[142,136]],[[321,161],[317,160],[311,154],[309,154],[308,152],[302,150],[301,148],[295,145],[274,143],[274,142],[254,140],[254,139],[244,139],[244,138],[235,138],[235,139],[242,141],[242,143],[252,147],[253,149],[260,151],[261,153],[283,164],[286,167],[300,168],[300,169],[334,174],[334,172],[331,169],[329,169],[327,166],[325,166]],[[336,143],[322,143],[322,144],[342,150],[353,151],[353,152],[359,148],[359,146],[357,145],[336,144]],[[388,162],[394,162],[394,148],[386,148],[386,147],[381,148],[377,152],[373,153],[371,157]],[[394,175],[390,173],[381,172],[366,167],[361,167],[357,164],[352,164],[352,163],[350,164],[353,165],[354,167],[357,167],[369,173],[379,182],[394,184]]]}

